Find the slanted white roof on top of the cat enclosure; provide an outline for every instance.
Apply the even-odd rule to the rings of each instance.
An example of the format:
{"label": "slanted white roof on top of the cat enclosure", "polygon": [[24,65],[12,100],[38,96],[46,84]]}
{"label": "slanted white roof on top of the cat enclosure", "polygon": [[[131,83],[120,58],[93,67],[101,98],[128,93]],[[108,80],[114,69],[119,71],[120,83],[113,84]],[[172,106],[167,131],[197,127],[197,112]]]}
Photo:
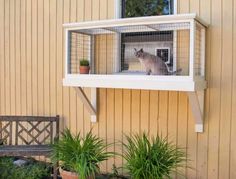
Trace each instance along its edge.
{"label": "slanted white roof on top of the cat enclosure", "polygon": [[[63,26],[67,30],[75,30],[86,34],[99,34],[99,33],[127,33],[133,31],[134,28],[138,31],[159,31],[159,30],[175,30],[173,25],[179,23],[182,25],[178,28],[188,28],[186,23],[195,20],[203,26],[207,26],[196,14],[178,14],[178,15],[163,15],[163,16],[148,16],[148,17],[134,17],[134,18],[121,18],[109,19],[98,21],[86,21],[77,23],[66,23]],[[138,27],[138,28],[137,28]],[[96,29],[96,30],[95,30]]]}

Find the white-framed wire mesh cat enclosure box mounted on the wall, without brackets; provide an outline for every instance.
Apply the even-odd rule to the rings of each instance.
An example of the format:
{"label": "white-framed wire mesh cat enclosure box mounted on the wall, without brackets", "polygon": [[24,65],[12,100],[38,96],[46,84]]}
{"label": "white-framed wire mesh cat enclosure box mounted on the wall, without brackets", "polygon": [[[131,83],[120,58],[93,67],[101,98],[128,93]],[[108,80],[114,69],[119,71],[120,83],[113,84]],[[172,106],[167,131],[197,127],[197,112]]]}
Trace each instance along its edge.
{"label": "white-framed wire mesh cat enclosure box mounted on the wall, without brackets", "polygon": [[[65,86],[197,91],[206,88],[205,29],[195,14],[64,24]],[[134,55],[161,58],[173,75],[146,75]],[[79,74],[80,60],[90,74]],[[104,60],[105,59],[105,60]]]}

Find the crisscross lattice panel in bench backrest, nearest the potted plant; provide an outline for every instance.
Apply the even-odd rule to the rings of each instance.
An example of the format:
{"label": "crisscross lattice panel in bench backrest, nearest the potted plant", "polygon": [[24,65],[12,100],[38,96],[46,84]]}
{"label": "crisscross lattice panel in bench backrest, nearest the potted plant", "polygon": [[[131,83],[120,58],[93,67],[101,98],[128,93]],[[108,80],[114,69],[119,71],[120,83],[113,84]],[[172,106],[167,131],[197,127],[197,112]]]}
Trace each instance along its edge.
{"label": "crisscross lattice panel in bench backrest, nearest the potted plant", "polygon": [[[17,141],[20,139],[23,144],[32,145],[32,144],[49,144],[52,141],[52,122],[27,122],[27,127],[21,123],[17,123]],[[27,137],[26,137],[27,136]]]}

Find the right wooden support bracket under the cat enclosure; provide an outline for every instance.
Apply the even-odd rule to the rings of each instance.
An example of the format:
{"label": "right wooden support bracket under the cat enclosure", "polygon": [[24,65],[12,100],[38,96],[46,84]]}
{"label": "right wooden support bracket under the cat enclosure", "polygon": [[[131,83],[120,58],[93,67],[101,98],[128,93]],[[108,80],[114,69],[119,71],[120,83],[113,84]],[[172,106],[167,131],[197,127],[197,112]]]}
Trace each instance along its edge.
{"label": "right wooden support bracket under the cat enclosure", "polygon": [[195,131],[203,132],[204,90],[188,92],[188,98],[195,119]]}

